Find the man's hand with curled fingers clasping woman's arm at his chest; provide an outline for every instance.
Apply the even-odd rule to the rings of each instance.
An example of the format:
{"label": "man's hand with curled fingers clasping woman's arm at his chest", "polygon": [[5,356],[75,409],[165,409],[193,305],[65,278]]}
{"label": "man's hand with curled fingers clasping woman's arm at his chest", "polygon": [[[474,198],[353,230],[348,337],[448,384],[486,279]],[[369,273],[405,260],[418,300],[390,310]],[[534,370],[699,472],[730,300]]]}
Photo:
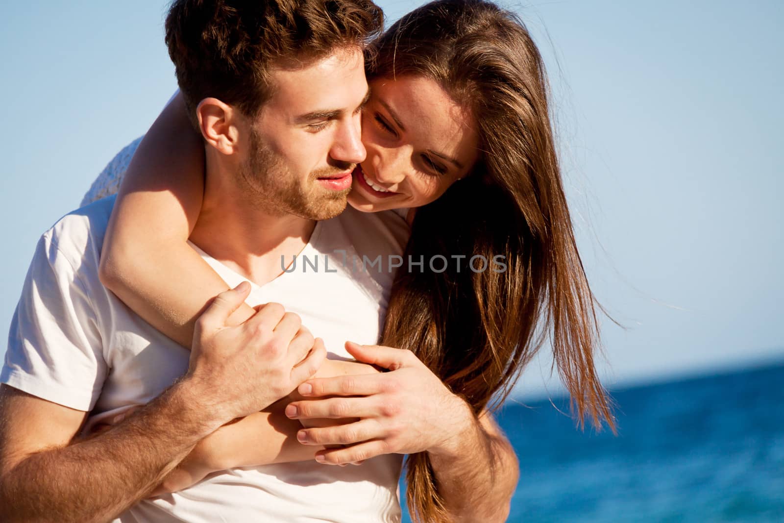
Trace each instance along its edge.
{"label": "man's hand with curled fingers clasping woman's arm at his chest", "polygon": [[279,303],[256,307],[248,321],[227,326],[249,292],[243,281],[220,293],[198,318],[190,369],[181,383],[192,388],[208,412],[216,413],[219,426],[283,398],[326,358],[323,341],[314,340],[299,316]]}

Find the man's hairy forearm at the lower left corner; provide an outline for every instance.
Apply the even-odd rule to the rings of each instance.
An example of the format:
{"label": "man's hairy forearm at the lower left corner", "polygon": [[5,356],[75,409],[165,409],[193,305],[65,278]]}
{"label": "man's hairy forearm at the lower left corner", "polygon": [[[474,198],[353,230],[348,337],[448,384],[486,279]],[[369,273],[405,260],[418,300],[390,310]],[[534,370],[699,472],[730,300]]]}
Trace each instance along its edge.
{"label": "man's hairy forearm at the lower left corner", "polygon": [[0,520],[111,520],[220,426],[194,405],[180,382],[95,438],[25,456],[0,478]]}

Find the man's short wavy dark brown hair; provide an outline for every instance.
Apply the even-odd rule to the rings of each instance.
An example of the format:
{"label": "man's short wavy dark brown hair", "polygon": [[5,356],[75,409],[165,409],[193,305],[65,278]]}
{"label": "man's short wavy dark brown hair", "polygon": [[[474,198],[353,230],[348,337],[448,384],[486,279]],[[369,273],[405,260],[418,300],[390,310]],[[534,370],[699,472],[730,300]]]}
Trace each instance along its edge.
{"label": "man's short wavy dark brown hair", "polygon": [[371,0],[175,0],[165,42],[191,119],[214,96],[250,117],[270,98],[270,67],[307,63],[379,35]]}

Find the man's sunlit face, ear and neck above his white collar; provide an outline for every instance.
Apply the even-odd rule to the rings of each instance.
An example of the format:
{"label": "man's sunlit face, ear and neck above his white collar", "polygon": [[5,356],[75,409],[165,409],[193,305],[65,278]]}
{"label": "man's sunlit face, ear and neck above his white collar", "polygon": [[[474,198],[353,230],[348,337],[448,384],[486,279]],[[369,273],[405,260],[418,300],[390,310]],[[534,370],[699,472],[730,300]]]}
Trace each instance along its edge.
{"label": "man's sunlit face, ear and neck above his white collar", "polygon": [[211,175],[190,237],[260,285],[280,274],[281,256],[303,249],[314,220],[346,208],[351,173],[365,159],[361,109],[369,96],[358,45],[274,67],[270,83],[272,96],[252,118],[201,100]]}

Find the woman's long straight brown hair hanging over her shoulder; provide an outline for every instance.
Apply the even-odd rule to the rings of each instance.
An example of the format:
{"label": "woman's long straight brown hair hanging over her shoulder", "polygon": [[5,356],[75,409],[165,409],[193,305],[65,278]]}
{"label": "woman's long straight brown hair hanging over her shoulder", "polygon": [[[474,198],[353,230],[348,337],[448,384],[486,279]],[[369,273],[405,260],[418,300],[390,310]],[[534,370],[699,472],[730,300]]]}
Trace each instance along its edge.
{"label": "woman's long straight brown hair hanging over her shoulder", "polygon": [[[369,78],[421,75],[469,107],[481,148],[469,176],[417,210],[405,254],[450,263],[441,273],[427,261],[423,271],[401,267],[383,343],[412,350],[478,415],[499,408],[550,336],[580,426],[587,417],[615,430],[593,362],[595,299],[564,197],[543,61],[521,20],[481,0],[431,2],[369,56]],[[466,255],[462,266],[452,255]],[[492,261],[499,255],[505,271]],[[484,256],[486,270],[470,270],[471,256]],[[406,480],[414,521],[449,521],[426,452],[408,456]]]}

